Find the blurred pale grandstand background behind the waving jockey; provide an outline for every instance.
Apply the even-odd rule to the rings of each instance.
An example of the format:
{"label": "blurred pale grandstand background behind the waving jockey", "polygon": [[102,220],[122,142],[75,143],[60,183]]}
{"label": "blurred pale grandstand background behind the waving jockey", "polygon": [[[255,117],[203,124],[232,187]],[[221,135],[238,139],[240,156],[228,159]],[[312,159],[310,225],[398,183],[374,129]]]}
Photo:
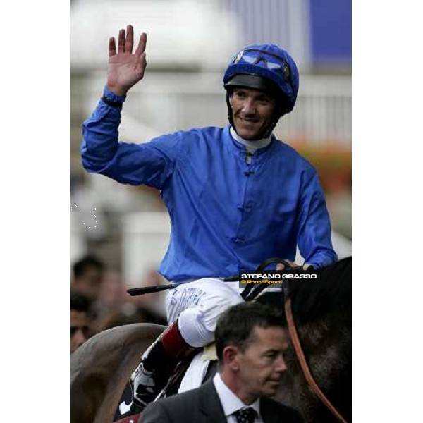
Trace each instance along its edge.
{"label": "blurred pale grandstand background behind the waving jockey", "polygon": [[[317,167],[338,255],[351,246],[350,0],[73,0],[71,2],[71,252],[94,254],[129,286],[152,283],[170,222],[159,192],[87,174],[82,122],[106,82],[109,37],[147,32],[147,73],[123,108],[120,139],[227,124],[223,71],[247,44],[278,44],[300,69],[294,111],[279,139]],[[300,259],[299,259],[300,260]],[[150,281],[150,282],[149,282]],[[154,281],[159,283],[159,281]]]}

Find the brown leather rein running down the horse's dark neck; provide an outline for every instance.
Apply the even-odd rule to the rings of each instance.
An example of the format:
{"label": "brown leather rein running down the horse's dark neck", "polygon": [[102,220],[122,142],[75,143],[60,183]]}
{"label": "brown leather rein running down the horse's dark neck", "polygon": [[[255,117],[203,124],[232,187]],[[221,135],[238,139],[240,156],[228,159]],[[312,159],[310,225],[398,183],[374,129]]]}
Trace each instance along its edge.
{"label": "brown leather rein running down the horse's dark neck", "polygon": [[305,360],[304,353],[302,352],[300,339],[298,338],[297,329],[295,328],[295,321],[293,317],[293,310],[291,307],[291,299],[288,296],[285,300],[285,313],[286,313],[286,320],[288,321],[288,331],[290,334],[291,341],[293,342],[295,354],[297,355],[298,361],[300,362],[300,366],[302,369],[302,373],[305,376],[305,380],[309,387],[312,388],[312,391],[317,395],[317,397],[321,400],[324,405],[329,409],[329,411],[340,421],[343,423],[347,423],[347,421],[339,414],[338,410],[331,404],[331,402],[326,398],[319,386],[317,386],[316,382],[313,379],[312,372],[308,367],[307,361]]}

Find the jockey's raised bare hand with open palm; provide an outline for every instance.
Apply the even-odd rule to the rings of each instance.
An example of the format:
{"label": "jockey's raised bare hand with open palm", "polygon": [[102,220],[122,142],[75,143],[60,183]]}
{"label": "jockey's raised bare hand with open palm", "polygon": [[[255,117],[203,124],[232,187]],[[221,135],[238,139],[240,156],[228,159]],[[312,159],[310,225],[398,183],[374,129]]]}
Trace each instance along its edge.
{"label": "jockey's raised bare hand with open palm", "polygon": [[109,69],[107,71],[107,87],[118,95],[125,95],[144,76],[147,61],[145,60],[145,44],[147,34],[142,32],[138,47],[133,54],[134,29],[128,25],[119,31],[118,51],[114,37],[109,39]]}

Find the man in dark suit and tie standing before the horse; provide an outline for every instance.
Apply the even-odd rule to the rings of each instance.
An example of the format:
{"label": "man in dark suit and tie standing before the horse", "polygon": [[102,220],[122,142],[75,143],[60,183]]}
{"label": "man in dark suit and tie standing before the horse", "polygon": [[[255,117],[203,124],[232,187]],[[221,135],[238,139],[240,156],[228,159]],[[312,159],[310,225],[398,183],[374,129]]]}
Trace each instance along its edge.
{"label": "man in dark suit and tie standing before the horse", "polygon": [[269,398],[278,388],[288,348],[281,315],[242,303],[216,326],[219,373],[200,388],[147,405],[138,423],[301,423],[292,407]]}

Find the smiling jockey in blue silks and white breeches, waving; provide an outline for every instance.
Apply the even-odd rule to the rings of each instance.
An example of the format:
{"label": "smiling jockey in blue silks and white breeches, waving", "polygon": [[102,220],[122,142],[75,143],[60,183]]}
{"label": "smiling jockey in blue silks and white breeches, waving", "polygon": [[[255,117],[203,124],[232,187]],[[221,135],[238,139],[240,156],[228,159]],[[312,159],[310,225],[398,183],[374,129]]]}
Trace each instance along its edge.
{"label": "smiling jockey in blue silks and white breeches, waving", "polygon": [[317,172],[276,140],[278,120],[293,110],[298,69],[274,44],[245,47],[223,76],[230,125],[163,135],[140,145],[118,143],[121,109],[147,64],[140,36],[121,30],[109,42],[104,96],[83,125],[82,164],[121,183],[161,190],[171,238],[159,272],[176,285],[166,297],[168,329],[142,355],[131,376],[135,403],[161,391],[180,357],[214,340],[219,314],[243,302],[238,282],[223,278],[256,269],[269,257],[305,266],[336,261]]}

